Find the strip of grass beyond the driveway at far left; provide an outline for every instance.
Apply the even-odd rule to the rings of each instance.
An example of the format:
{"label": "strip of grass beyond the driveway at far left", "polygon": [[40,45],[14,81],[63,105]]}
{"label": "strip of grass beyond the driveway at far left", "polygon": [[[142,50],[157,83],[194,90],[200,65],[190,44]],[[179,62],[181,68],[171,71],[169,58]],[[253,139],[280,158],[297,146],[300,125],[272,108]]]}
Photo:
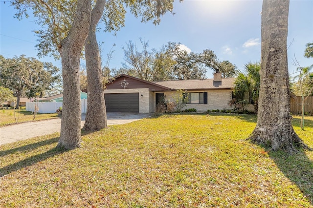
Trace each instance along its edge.
{"label": "strip of grass beyond the driveway at far left", "polygon": [[[19,110],[15,110],[16,118],[18,118],[18,123],[21,122],[29,122],[34,121],[32,112],[26,111],[25,107],[21,107],[20,112]],[[57,113],[48,113],[48,114],[41,114],[37,113],[35,121],[44,120],[44,119],[52,119],[57,118]],[[0,126],[15,124],[14,118],[14,109],[0,109]]]}

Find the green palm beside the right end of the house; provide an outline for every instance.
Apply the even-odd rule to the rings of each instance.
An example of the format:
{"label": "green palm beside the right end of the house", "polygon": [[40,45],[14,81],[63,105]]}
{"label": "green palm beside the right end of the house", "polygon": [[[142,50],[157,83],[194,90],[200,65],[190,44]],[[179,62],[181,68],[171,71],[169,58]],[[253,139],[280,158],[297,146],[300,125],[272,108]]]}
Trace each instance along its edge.
{"label": "green palm beside the right end of the house", "polygon": [[234,82],[233,99],[229,102],[235,109],[244,111],[246,104],[253,104],[254,111],[258,111],[260,69],[260,62],[248,62],[245,72],[239,71]]}

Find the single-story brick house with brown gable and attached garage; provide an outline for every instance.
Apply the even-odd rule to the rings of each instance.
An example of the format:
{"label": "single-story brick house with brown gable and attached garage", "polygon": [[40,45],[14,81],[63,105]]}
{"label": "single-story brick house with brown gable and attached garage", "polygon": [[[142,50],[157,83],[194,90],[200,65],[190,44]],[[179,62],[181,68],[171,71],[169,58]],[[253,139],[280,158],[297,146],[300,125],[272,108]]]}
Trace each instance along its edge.
{"label": "single-story brick house with brown gable and attached garage", "polygon": [[152,113],[156,111],[156,104],[162,97],[166,101],[173,101],[179,89],[187,92],[190,98],[183,109],[195,108],[200,112],[232,109],[228,102],[232,99],[234,80],[215,73],[214,79],[148,82],[121,74],[106,85],[106,110]]}

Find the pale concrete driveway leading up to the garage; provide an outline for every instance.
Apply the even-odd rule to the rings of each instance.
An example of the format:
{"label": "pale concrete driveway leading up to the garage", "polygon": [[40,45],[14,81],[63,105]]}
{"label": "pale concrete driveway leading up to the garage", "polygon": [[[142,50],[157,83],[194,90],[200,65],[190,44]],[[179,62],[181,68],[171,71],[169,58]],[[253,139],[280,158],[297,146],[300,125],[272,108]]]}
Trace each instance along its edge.
{"label": "pale concrete driveway leading up to the garage", "polygon": [[[107,122],[108,125],[127,124],[150,116],[148,113],[107,113]],[[82,127],[85,124],[85,117],[86,114],[82,114]],[[60,132],[60,129],[61,117],[4,126],[0,128],[0,145]]]}

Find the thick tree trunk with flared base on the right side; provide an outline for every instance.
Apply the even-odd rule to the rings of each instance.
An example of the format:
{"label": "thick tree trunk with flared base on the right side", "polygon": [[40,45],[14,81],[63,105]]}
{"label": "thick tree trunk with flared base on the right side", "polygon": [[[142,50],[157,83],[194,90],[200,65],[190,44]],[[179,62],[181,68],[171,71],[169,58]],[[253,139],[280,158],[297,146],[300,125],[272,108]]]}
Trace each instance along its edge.
{"label": "thick tree trunk with flared base on the right side", "polygon": [[304,145],[294,132],[290,115],[287,62],[289,0],[263,0],[261,86],[258,120],[252,142],[272,150],[295,151]]}

